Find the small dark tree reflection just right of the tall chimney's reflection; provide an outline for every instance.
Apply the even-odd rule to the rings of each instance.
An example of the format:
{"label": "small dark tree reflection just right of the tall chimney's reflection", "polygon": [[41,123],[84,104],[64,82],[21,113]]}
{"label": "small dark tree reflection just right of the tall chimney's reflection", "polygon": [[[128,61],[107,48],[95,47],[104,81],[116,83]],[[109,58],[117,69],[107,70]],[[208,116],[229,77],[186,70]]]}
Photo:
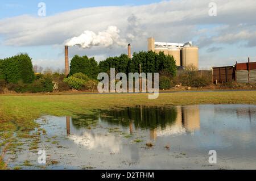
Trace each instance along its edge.
{"label": "small dark tree reflection just right of the tall chimney's reflection", "polygon": [[98,121],[98,113],[94,115],[76,115],[72,117],[73,127],[76,129],[86,128],[90,125],[96,125]]}

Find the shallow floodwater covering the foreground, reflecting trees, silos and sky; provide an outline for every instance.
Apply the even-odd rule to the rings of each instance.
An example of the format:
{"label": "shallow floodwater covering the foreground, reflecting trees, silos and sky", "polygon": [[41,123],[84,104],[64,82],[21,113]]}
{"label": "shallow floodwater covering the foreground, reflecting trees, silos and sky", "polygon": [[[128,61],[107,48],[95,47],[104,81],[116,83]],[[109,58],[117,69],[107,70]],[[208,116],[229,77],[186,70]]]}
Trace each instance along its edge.
{"label": "shallow floodwater covering the foreground, reflecting trees, silos and sky", "polygon": [[[22,169],[256,169],[256,106],[137,106],[92,116],[43,116],[39,148]],[[47,164],[38,163],[45,150]],[[216,163],[209,163],[209,151]],[[214,155],[213,155],[214,156]],[[211,157],[212,158],[212,157]],[[30,166],[24,166],[25,160]],[[23,165],[23,166],[22,166]]]}

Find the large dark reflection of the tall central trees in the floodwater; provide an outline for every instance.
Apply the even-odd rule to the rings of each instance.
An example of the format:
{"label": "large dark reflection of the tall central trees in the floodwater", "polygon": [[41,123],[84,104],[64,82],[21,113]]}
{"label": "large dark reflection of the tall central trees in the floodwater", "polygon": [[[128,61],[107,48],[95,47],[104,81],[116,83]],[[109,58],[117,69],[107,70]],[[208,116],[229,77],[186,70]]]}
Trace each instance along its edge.
{"label": "large dark reflection of the tall central trees in the floodwater", "polygon": [[130,121],[140,128],[165,128],[167,124],[175,123],[177,110],[175,107],[127,107],[123,110],[102,111],[102,121],[121,124],[129,127]]}

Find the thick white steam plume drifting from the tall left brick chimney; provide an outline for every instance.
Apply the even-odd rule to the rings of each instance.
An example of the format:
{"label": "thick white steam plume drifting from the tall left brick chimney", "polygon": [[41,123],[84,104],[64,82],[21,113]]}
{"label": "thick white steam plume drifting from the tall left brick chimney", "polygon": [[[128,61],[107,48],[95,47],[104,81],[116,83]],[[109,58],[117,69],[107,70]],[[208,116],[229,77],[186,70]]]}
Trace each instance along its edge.
{"label": "thick white steam plume drifting from the tall left brick chimney", "polygon": [[84,31],[80,36],[68,40],[65,45],[69,47],[78,45],[79,47],[88,49],[93,46],[111,47],[113,45],[118,45],[126,47],[127,41],[126,39],[121,39],[119,32],[120,30],[115,26],[109,26],[107,30],[98,32],[98,34],[93,31]]}

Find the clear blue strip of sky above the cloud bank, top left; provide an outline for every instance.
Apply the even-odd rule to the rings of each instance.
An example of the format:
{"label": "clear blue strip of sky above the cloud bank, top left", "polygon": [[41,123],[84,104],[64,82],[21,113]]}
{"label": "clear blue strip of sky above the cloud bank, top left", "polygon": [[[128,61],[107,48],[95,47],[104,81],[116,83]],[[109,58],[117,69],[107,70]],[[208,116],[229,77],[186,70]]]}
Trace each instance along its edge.
{"label": "clear blue strip of sky above the cloud bank, top left", "polygon": [[58,12],[64,12],[69,10],[81,9],[85,7],[97,7],[97,6],[122,6],[122,5],[145,5],[154,2],[160,2],[160,0],[100,0],[100,1],[88,1],[88,0],[23,0],[23,1],[1,1],[1,14],[0,18],[9,18],[13,16],[30,14],[36,16],[38,14],[38,3],[44,2],[47,5],[47,14],[53,15]]}

